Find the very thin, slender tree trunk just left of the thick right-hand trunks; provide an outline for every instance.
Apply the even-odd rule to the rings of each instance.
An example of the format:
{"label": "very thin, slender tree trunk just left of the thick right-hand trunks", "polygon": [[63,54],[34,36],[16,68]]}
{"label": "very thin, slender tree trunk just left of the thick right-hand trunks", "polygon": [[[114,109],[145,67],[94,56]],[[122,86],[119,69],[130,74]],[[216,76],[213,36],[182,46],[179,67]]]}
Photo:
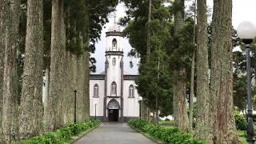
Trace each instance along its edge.
{"label": "very thin, slender tree trunk just left of the thick right-hand trunks", "polygon": [[[194,1],[194,27],[193,27],[193,46],[195,46],[195,31],[196,31],[196,3],[197,0]],[[193,47],[194,49],[194,47]],[[190,79],[190,131],[193,130],[193,110],[194,110],[194,57],[195,57],[195,51],[193,50],[192,54],[192,64],[191,64],[191,79]]]}

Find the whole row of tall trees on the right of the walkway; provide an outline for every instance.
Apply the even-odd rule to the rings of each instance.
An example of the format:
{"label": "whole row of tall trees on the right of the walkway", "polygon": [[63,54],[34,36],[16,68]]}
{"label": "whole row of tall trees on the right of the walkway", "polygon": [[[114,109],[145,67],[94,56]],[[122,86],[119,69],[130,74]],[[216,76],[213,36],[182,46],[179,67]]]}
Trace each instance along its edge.
{"label": "whole row of tall trees on the right of the walkway", "polygon": [[[193,95],[197,97],[195,136],[210,143],[239,143],[233,98],[238,91],[233,90],[232,64],[238,38],[231,23],[232,1],[214,0],[210,24],[206,0],[194,3],[188,11],[184,0],[170,1],[170,6],[164,0],[122,2],[128,10],[120,24],[127,25],[124,32],[134,48],[130,55],[141,57],[138,93],[154,112],[155,124],[160,110],[163,115],[173,114],[180,130],[192,129],[193,106],[190,119],[186,106],[190,88],[190,105]],[[235,61],[237,58],[243,58],[242,54]]]}

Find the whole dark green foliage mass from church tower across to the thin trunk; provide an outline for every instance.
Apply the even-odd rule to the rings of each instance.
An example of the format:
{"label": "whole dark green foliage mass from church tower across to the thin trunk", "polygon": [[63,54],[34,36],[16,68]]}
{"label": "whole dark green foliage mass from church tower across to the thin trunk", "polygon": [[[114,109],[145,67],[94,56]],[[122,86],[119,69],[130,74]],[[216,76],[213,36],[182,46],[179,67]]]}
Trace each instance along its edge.
{"label": "whole dark green foliage mass from church tower across to the thin trunk", "polygon": [[[152,0],[152,17],[148,22],[149,1],[122,0],[128,10],[120,20],[126,26],[124,35],[133,49],[129,56],[140,57],[140,77],[136,80],[140,94],[151,110],[159,109],[162,116],[172,114],[172,78],[170,72],[178,66],[186,68],[187,83],[190,81],[190,65],[193,46],[193,18],[187,17],[181,33],[174,37],[173,14],[181,9],[176,3],[164,6],[163,0]],[[146,55],[147,31],[150,27],[150,55]],[[158,58],[160,69],[158,70]],[[131,64],[132,66],[132,64]],[[158,80],[158,73],[160,78]],[[152,77],[154,75],[154,77]],[[156,98],[159,107],[155,106]]]}

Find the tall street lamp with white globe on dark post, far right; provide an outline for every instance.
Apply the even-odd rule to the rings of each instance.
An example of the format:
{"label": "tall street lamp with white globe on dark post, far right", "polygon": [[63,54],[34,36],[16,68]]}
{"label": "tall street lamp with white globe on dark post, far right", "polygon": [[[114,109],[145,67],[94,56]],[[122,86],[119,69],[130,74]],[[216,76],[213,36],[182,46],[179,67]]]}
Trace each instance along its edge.
{"label": "tall street lamp with white globe on dark post, far right", "polygon": [[253,105],[251,98],[251,74],[250,74],[250,43],[256,36],[256,27],[251,22],[242,22],[238,26],[238,37],[246,44],[246,71],[247,71],[247,142],[253,144],[254,126],[253,126]]}

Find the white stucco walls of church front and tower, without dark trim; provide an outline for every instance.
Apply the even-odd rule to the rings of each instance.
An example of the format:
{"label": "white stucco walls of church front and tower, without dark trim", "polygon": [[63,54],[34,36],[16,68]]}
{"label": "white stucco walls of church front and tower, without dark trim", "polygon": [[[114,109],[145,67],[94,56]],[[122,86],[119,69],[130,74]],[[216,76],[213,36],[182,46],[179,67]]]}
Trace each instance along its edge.
{"label": "white stucco walls of church front and tower, without dark trim", "polygon": [[[117,51],[123,51],[123,38],[119,36],[109,36],[106,37],[106,51],[112,51],[112,41],[114,38],[117,40]],[[115,64],[113,64],[113,58],[116,59]],[[105,95],[105,81],[104,80],[90,80],[90,116],[94,116],[95,108],[94,103],[97,104],[97,116],[103,116],[104,107],[104,97],[106,96],[106,106],[112,98],[109,96],[121,96],[121,76],[122,70],[120,63],[123,61],[123,56],[121,55],[106,55],[106,61],[108,62],[108,68],[106,70],[106,95]],[[111,95],[111,83],[116,82],[117,84],[117,95]],[[94,85],[99,86],[99,98],[93,98]],[[123,82],[123,116],[124,117],[138,117],[139,116],[139,104],[138,104],[138,92],[134,89],[134,98],[129,98],[129,86],[134,85],[133,80],[127,80]],[[121,106],[121,98],[115,97]],[[121,106],[122,107],[122,106]],[[121,116],[121,109],[119,109],[119,117]],[[106,109],[106,117],[108,117],[108,110]]]}

